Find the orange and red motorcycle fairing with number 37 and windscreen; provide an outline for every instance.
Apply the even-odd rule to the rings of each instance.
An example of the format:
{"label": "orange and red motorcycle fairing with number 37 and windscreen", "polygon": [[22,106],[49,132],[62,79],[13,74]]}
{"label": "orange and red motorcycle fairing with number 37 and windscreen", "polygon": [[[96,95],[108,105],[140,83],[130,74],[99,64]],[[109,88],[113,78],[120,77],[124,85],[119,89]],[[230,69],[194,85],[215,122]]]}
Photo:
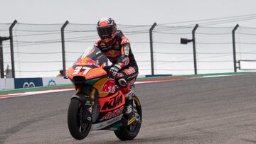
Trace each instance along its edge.
{"label": "orange and red motorcycle fairing with number 37 and windscreen", "polygon": [[[106,63],[107,57],[98,48],[92,48],[84,52],[73,67],[66,71],[76,90],[83,92],[86,87],[85,94],[93,99],[92,130],[111,127],[124,113],[125,96],[114,83],[114,79],[107,77],[103,68]],[[93,87],[91,92],[87,84]]]}

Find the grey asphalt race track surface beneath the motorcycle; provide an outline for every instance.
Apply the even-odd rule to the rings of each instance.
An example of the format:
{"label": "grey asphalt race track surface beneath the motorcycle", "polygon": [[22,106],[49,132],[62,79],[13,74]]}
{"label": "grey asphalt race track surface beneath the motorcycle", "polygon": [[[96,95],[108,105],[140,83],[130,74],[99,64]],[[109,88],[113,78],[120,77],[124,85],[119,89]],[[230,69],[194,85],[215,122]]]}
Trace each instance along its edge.
{"label": "grey asphalt race track surface beneath the motorcycle", "polygon": [[0,99],[0,143],[256,143],[256,74],[137,84],[143,121],[129,142],[112,131],[74,140],[73,93]]}

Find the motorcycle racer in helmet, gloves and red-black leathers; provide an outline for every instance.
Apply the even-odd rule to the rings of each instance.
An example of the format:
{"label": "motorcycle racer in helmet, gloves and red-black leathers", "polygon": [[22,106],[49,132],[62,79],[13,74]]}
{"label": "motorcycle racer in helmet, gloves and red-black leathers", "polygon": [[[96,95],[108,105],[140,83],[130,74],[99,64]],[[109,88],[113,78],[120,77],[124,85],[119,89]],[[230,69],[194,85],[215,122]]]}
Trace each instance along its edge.
{"label": "motorcycle racer in helmet, gloves and red-black leathers", "polygon": [[97,40],[94,46],[99,48],[112,62],[110,74],[125,94],[128,104],[127,113],[130,113],[132,111],[131,87],[137,78],[138,66],[129,40],[122,31],[117,30],[117,24],[112,18],[101,18],[97,22],[97,34],[100,40]]}

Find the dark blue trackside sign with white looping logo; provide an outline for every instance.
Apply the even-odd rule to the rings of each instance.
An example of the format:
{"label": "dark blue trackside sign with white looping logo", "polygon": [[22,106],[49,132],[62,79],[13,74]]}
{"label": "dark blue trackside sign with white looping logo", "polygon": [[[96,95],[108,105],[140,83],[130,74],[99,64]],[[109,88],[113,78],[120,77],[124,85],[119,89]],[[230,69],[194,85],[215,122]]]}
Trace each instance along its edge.
{"label": "dark blue trackside sign with white looping logo", "polygon": [[15,89],[42,87],[42,78],[18,78],[14,79]]}

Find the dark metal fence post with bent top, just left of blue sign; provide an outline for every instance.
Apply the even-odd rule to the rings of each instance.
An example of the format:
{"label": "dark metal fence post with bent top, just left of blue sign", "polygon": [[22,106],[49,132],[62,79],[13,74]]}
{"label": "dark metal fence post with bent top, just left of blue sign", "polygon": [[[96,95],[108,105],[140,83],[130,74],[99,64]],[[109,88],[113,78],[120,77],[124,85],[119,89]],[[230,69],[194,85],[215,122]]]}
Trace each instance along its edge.
{"label": "dark metal fence post with bent top, just left of blue sign", "polygon": [[14,38],[13,38],[13,28],[18,21],[15,20],[14,23],[11,23],[9,28],[9,35],[10,35],[10,48],[11,48],[11,74],[12,78],[15,78],[15,65],[14,65]]}

